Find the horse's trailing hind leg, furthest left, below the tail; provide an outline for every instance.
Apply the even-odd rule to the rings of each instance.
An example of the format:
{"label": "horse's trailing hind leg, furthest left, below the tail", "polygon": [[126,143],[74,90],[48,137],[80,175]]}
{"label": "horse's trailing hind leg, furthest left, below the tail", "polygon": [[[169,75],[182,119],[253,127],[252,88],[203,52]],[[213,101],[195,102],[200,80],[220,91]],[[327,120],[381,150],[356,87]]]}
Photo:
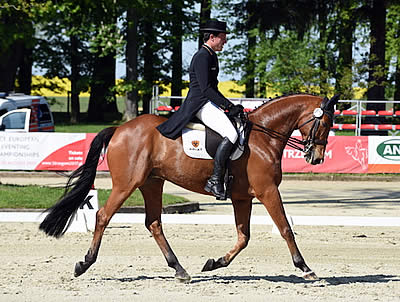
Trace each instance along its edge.
{"label": "horse's trailing hind leg, furthest left, below the tail", "polygon": [[129,195],[131,195],[133,189],[134,188],[131,190],[120,190],[118,187],[113,187],[104,207],[97,211],[96,228],[94,231],[93,240],[85,256],[85,260],[80,261],[75,265],[75,277],[82,275],[93,263],[96,262],[105,228],[110,222],[112,216],[118,211]]}

